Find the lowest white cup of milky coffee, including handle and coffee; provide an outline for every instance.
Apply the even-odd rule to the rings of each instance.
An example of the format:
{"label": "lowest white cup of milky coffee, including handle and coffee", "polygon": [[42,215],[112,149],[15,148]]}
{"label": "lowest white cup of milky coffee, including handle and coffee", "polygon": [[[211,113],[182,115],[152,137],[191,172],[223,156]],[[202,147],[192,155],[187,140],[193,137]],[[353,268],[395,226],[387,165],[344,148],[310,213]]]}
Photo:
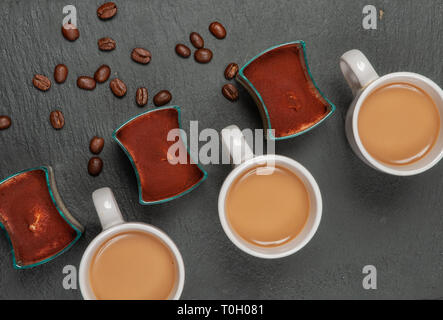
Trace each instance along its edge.
{"label": "lowest white cup of milky coffee, including handle and coffee", "polygon": [[160,229],[125,222],[109,188],[92,194],[103,231],[80,262],[87,300],[176,300],[185,281],[182,256]]}

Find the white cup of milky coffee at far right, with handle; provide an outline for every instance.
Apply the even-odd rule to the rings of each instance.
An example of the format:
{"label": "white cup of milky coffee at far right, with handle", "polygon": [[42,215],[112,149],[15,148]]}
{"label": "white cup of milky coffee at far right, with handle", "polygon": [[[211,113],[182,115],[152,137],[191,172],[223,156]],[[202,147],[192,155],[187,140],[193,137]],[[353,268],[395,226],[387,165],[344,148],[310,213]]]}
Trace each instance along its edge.
{"label": "white cup of milky coffee at far right, with handle", "polygon": [[360,159],[397,176],[422,173],[443,157],[443,91],[412,72],[379,77],[359,50],[343,54],[340,68],[354,94],[346,136]]}

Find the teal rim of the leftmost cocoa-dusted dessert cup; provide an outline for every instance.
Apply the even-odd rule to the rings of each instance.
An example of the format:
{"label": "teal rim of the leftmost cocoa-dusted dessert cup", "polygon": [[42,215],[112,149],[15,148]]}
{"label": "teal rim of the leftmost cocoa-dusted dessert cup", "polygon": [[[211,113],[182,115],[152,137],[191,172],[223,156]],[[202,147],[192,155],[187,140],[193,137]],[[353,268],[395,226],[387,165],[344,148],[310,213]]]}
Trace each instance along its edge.
{"label": "teal rim of the leftmost cocoa-dusted dessert cup", "polygon": [[58,206],[58,204],[57,204],[57,201],[55,200],[55,197],[54,197],[54,194],[53,194],[53,191],[52,191],[52,187],[51,187],[51,182],[50,182],[50,180],[49,180],[49,169],[48,169],[48,167],[46,167],[46,166],[40,166],[40,167],[35,167],[35,168],[31,168],[31,169],[26,169],[26,170],[19,171],[19,172],[17,172],[17,173],[14,173],[13,175],[11,175],[11,176],[9,176],[9,177],[7,177],[7,178],[1,180],[1,181],[0,181],[0,185],[3,184],[3,183],[6,182],[6,181],[8,181],[8,180],[10,180],[10,179],[12,179],[12,178],[18,176],[18,175],[20,175],[20,174],[23,174],[23,173],[25,173],[25,172],[29,172],[29,171],[36,171],[36,170],[42,170],[42,171],[45,172],[46,186],[48,187],[48,191],[49,191],[49,195],[51,196],[51,200],[52,200],[52,202],[54,203],[55,208],[57,209],[58,213],[59,213],[60,216],[63,218],[63,220],[65,220],[65,221],[70,225],[70,227],[71,227],[72,229],[75,230],[75,232],[76,232],[76,237],[75,237],[75,239],[72,240],[71,243],[69,243],[65,248],[63,248],[61,251],[57,252],[57,253],[54,254],[53,256],[51,256],[51,257],[49,257],[49,258],[46,258],[46,259],[44,259],[44,260],[42,260],[42,261],[39,261],[39,262],[33,263],[33,264],[29,264],[29,265],[21,266],[21,265],[17,264],[17,260],[15,259],[15,251],[14,251],[14,247],[13,247],[13,245],[12,245],[11,238],[9,237],[9,234],[8,234],[8,232],[7,232],[6,228],[5,228],[5,226],[0,222],[0,229],[3,229],[3,230],[5,231],[5,233],[6,233],[6,238],[8,239],[9,245],[11,246],[12,264],[13,264],[13,266],[14,266],[14,269],[18,269],[18,270],[33,268],[33,267],[39,266],[39,265],[41,265],[41,264],[44,264],[44,263],[46,263],[46,262],[49,262],[49,261],[51,261],[51,260],[57,258],[59,255],[61,255],[61,254],[65,253],[66,251],[68,251],[68,250],[69,250],[69,249],[70,249],[70,248],[71,248],[71,247],[72,247],[72,246],[78,241],[78,239],[80,239],[80,237],[81,237],[81,235],[82,235],[82,231],[81,231],[77,226],[75,226],[75,225],[74,225],[69,219],[66,218],[65,214],[64,214],[63,211],[59,208],[59,206]]}

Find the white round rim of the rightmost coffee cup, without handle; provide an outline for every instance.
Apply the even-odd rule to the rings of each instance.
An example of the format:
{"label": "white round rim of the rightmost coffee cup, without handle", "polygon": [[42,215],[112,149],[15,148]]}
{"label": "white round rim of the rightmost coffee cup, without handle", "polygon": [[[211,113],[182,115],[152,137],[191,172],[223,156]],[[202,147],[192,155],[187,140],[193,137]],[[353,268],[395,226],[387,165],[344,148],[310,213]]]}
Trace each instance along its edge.
{"label": "white round rim of the rightmost coffee cup, without handle", "polygon": [[[432,81],[431,79],[429,79],[421,74],[413,73],[413,72],[388,73],[386,75],[383,75],[383,76],[377,78],[376,80],[374,80],[370,84],[368,84],[366,87],[364,87],[361,90],[360,94],[355,98],[354,113],[352,115],[352,133],[354,136],[355,143],[357,144],[357,147],[360,150],[362,156],[374,168],[376,168],[382,172],[385,172],[385,173],[388,173],[391,175],[395,175],[395,176],[412,176],[412,175],[416,175],[416,174],[425,172],[425,171],[431,169],[433,166],[435,166],[443,158],[443,150],[440,150],[440,153],[436,157],[434,157],[434,159],[432,159],[432,161],[430,161],[426,165],[421,166],[420,168],[410,169],[410,170],[405,170],[403,168],[402,170],[398,170],[398,169],[394,169],[393,167],[387,166],[387,165],[383,164],[382,162],[376,160],[374,157],[372,157],[369,154],[369,152],[366,150],[366,148],[364,147],[364,145],[360,139],[360,134],[358,132],[358,115],[360,113],[360,109],[363,104],[363,101],[365,101],[365,99],[368,97],[368,95],[370,95],[377,88],[377,86],[379,85],[380,82],[384,82],[390,78],[398,78],[398,77],[404,77],[405,78],[404,82],[406,82],[406,83],[408,83],[406,77],[421,80],[421,81],[425,82],[426,84],[428,84],[430,87],[432,87],[432,89],[434,89],[436,92],[438,92],[443,99],[442,89],[434,81]],[[441,112],[440,108],[439,108],[439,111]],[[440,130],[442,130],[442,128],[440,128]]]}

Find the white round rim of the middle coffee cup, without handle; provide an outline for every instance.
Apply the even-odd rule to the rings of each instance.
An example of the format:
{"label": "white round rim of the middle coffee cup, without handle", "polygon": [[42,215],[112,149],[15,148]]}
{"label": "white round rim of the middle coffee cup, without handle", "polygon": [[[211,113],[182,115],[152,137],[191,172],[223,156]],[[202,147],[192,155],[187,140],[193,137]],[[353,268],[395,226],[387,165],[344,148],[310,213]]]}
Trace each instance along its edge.
{"label": "white round rim of the middle coffee cup, without handle", "polygon": [[[305,178],[305,180],[309,183],[309,186],[313,190],[313,196],[316,201],[316,211],[315,213],[310,212],[310,214],[314,214],[314,223],[309,230],[309,232],[306,234],[306,236],[303,238],[302,241],[298,243],[298,245],[282,251],[282,252],[276,252],[276,253],[264,253],[259,252],[256,250],[252,250],[248,246],[246,246],[242,241],[238,240],[238,237],[235,236],[234,231],[232,230],[232,227],[230,226],[228,219],[226,217],[226,211],[225,211],[225,201],[226,196],[228,193],[229,188],[231,187],[232,183],[235,181],[235,179],[242,174],[245,170],[249,169],[250,167],[253,167],[256,164],[263,163],[263,161],[269,159],[270,157],[274,158],[277,161],[281,161],[283,164],[290,164],[290,166],[293,166],[297,168],[299,173]],[[290,169],[290,168],[289,168]],[[299,173],[296,173],[299,175]],[[311,206],[312,207],[312,206]],[[318,187],[317,182],[315,181],[312,174],[299,162],[295,161],[294,159],[281,156],[281,155],[261,155],[261,156],[255,156],[252,159],[246,160],[242,164],[235,167],[229,175],[226,177],[225,181],[223,182],[223,185],[220,189],[219,197],[218,197],[218,213],[220,218],[220,223],[223,227],[224,232],[226,233],[227,237],[231,240],[234,245],[242,250],[243,252],[246,252],[252,256],[263,258],[263,259],[278,259],[287,257],[289,255],[292,255],[302,249],[308,242],[313,238],[315,235],[318,226],[320,225],[320,220],[322,216],[322,197],[320,193],[320,188]],[[305,226],[306,228],[306,226]],[[295,238],[296,239],[296,238]],[[291,240],[294,241],[295,239]]]}

